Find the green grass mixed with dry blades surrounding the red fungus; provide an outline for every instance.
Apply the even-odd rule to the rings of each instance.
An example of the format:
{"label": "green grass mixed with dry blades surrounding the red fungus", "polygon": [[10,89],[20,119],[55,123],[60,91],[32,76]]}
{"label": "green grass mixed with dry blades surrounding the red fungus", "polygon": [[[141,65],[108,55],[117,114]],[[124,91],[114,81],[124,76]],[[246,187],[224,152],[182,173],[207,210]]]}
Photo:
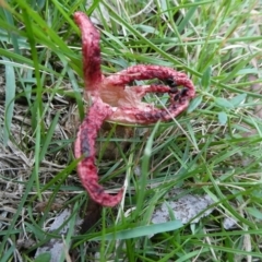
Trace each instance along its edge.
{"label": "green grass mixed with dry blades surrounding the red fungus", "polygon": [[[75,11],[100,31],[105,74],[166,66],[198,93],[171,122],[100,133],[100,181],[124,184],[126,198],[85,234],[74,228],[88,206],[72,152],[85,112]],[[258,0],[0,1],[1,261],[33,261],[51,239],[63,239],[68,261],[260,261],[261,13]],[[153,225],[157,206],[179,200],[174,187],[207,194],[212,213]],[[48,231],[67,207],[68,233]]]}

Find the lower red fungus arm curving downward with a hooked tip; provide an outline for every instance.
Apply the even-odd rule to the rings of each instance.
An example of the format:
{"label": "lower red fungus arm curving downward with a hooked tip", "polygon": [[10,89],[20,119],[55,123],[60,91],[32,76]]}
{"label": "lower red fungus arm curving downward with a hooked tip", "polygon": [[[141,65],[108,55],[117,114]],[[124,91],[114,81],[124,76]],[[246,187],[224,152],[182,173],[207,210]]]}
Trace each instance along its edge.
{"label": "lower red fungus arm curving downward with a hooked tip", "polygon": [[79,128],[74,145],[76,158],[83,157],[78,165],[78,172],[83,187],[90,193],[90,196],[104,206],[115,206],[121,199],[123,189],[117,195],[106,193],[98,184],[97,169],[95,166],[95,140],[105,119],[111,114],[110,107],[100,99],[94,102],[91,106],[84,121]]}

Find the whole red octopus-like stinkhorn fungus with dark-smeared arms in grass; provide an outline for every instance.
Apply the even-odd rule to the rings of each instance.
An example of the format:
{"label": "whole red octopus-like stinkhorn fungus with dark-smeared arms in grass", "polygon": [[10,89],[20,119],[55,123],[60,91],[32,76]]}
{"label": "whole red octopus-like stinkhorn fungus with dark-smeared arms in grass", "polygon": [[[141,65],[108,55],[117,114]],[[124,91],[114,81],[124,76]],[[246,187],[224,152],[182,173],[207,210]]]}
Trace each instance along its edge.
{"label": "whole red octopus-like stinkhorn fungus with dark-smeared arms in grass", "polygon": [[[82,12],[74,14],[75,23],[82,32],[83,70],[85,97],[92,100],[86,117],[80,126],[74,145],[78,172],[90,196],[104,206],[115,206],[121,199],[123,189],[111,195],[98,184],[95,166],[95,140],[105,120],[118,123],[154,123],[168,121],[182,112],[194,97],[194,86],[184,73],[159,66],[138,64],[108,78],[100,71],[99,33]],[[135,80],[158,79],[165,84],[129,86]],[[182,88],[178,88],[182,86]],[[141,99],[146,93],[168,93],[167,108],[156,108]]]}

